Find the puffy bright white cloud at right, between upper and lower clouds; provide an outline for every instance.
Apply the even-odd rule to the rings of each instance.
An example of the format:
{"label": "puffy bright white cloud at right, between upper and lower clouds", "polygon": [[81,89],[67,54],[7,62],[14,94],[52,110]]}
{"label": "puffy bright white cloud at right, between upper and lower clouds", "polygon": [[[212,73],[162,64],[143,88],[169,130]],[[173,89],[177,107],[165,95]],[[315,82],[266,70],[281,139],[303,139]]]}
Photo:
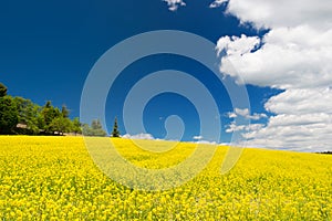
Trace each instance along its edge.
{"label": "puffy bright white cloud at right, between upper and lower clouds", "polygon": [[332,29],[322,32],[305,25],[279,28],[266,34],[263,45],[251,52],[258,44],[257,38],[224,36],[217,44],[218,52],[225,50],[227,53],[221,59],[220,71],[234,77],[240,74],[247,84],[259,86],[328,87],[332,85],[330,39]]}

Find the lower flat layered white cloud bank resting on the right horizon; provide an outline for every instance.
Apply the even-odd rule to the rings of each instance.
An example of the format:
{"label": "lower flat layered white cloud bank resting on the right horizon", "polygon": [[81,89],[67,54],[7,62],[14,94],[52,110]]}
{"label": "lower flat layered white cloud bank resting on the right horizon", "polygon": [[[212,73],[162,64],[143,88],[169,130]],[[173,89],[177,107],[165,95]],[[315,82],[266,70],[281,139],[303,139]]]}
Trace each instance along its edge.
{"label": "lower flat layered white cloud bank resting on the right horizon", "polygon": [[274,114],[266,127],[245,133],[249,146],[293,150],[331,150],[332,91],[288,90],[271,97],[266,108]]}

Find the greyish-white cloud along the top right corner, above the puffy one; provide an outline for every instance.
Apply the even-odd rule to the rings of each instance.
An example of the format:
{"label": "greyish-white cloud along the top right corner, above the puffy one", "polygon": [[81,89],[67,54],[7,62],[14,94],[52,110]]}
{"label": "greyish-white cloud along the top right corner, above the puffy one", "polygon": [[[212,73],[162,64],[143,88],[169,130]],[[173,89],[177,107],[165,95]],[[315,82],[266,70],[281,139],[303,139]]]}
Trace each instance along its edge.
{"label": "greyish-white cloud along the top right corner, above the puffy one", "polygon": [[[211,6],[224,2],[226,0],[216,0]],[[252,22],[257,28],[309,24],[330,29],[331,11],[330,0],[230,0],[227,9],[227,13],[237,15],[242,23]]]}

